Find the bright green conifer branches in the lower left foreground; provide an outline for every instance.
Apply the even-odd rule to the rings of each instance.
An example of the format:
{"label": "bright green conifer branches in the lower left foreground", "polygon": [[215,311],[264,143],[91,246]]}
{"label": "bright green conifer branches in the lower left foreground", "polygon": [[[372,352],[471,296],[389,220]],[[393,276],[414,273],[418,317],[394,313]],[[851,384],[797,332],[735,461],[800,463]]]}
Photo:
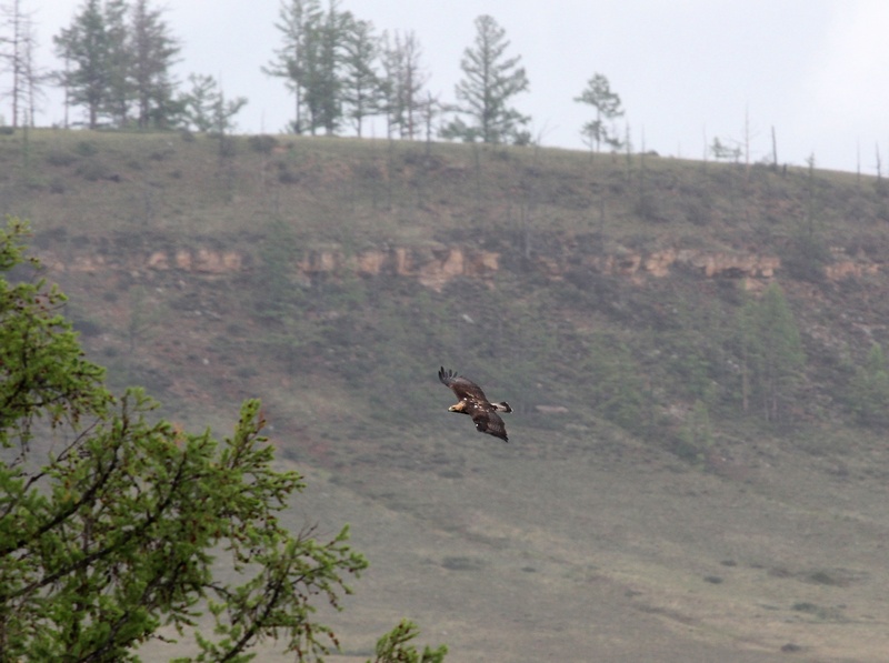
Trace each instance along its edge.
{"label": "bright green conifer branches in the lower left foreground", "polygon": [[[14,219],[0,230],[2,273],[24,262],[27,233]],[[338,606],[367,561],[348,528],[321,542],[279,524],[304,484],[272,470],[259,401],[222,442],[152,423],[141,390],[107,392],[63,299],[0,277],[0,659],[137,661],[163,626],[194,633],[180,661],[247,661],[267,639],[298,660],[338,646],[312,599]],[[420,660],[413,636],[399,625],[379,660]]]}

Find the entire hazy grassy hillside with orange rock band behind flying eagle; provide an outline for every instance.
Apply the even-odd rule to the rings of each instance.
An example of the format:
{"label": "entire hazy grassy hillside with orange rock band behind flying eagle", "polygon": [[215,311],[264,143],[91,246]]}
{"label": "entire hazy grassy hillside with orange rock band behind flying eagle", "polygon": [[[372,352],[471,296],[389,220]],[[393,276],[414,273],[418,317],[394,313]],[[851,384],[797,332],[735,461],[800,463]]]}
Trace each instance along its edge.
{"label": "entire hazy grassy hillside with orange rock band behind flying eagle", "polygon": [[[457,661],[885,651],[885,182],[48,130],[0,167],[113,384],[189,423],[262,398],[319,484],[294,522],[351,520],[379,564],[352,632],[411,614]],[[446,412],[441,364],[510,401],[509,446]]]}

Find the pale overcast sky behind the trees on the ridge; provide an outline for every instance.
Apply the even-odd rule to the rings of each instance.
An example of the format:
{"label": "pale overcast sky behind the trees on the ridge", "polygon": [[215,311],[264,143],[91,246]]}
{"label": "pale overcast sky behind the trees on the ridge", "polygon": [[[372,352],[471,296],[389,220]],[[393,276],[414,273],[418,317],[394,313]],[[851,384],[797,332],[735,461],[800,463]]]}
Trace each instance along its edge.
{"label": "pale overcast sky behind the trees on the ridge", "polygon": [[[292,119],[282,81],[260,72],[280,44],[280,0],[163,0],[182,42],[178,80],[212,74],[249,103],[242,132],[274,133]],[[34,11],[39,63],[57,69],[52,37],[81,0],[22,0]],[[751,158],[876,172],[889,161],[887,0],[341,0],[377,31],[413,30],[430,74],[427,88],[453,101],[473,20],[491,14],[521,56],[530,90],[515,106],[542,144],[583,149],[591,109],[576,103],[605,74],[627,111],[635,148],[700,159],[718,137],[741,141],[749,118]],[[4,109],[0,107],[0,112]],[[38,122],[60,122],[53,96]],[[378,133],[381,135],[381,132]],[[860,154],[860,157],[859,157]]]}

